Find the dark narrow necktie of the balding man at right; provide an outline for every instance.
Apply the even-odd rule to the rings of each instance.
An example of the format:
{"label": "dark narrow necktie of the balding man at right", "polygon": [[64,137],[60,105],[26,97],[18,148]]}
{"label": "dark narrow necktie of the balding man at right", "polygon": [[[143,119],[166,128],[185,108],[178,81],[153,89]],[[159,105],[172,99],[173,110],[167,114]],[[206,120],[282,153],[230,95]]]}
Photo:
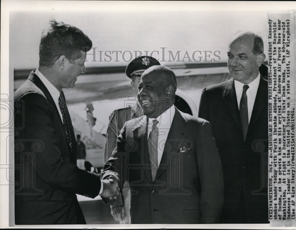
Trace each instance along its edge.
{"label": "dark narrow necktie of the balding man at right", "polygon": [[249,115],[248,115],[248,98],[247,98],[247,89],[248,85],[244,85],[242,90],[242,98],[239,103],[239,115],[242,122],[242,133],[244,135],[244,141],[246,140],[248,127],[249,127]]}

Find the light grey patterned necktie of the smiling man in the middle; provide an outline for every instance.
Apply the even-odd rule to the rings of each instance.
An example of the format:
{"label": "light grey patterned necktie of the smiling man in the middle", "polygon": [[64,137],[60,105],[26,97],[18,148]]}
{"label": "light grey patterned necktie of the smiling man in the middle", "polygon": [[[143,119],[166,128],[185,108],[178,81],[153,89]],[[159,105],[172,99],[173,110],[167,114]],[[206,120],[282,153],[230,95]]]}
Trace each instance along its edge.
{"label": "light grey patterned necktie of the smiling man in the middle", "polygon": [[158,128],[156,127],[157,123],[158,121],[155,119],[153,121],[152,130],[148,138],[148,152],[149,152],[149,159],[151,163],[152,181],[155,180],[155,176],[158,168],[158,163],[157,163]]}

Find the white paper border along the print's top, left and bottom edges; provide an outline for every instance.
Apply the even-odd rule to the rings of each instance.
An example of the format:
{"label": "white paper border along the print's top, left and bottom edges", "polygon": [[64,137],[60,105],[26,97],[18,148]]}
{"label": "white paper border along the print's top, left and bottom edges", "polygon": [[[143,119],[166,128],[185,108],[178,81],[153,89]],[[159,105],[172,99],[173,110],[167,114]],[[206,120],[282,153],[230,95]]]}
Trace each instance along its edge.
{"label": "white paper border along the print's top, left and bottom edges", "polygon": [[[200,11],[200,12],[221,12],[221,11],[247,11],[258,12],[268,11],[268,13],[287,13],[287,9],[296,9],[295,2],[266,2],[266,1],[245,1],[245,2],[214,2],[214,1],[25,1],[25,0],[1,0],[1,72],[0,72],[0,92],[1,94],[7,93],[13,95],[13,82],[9,76],[9,12],[11,11],[73,11],[73,10],[86,10],[86,11],[133,11],[133,10],[145,10],[145,11],[166,11],[178,12],[178,11]],[[13,72],[13,71],[12,71]],[[11,77],[11,76],[10,76]],[[11,96],[12,97],[12,96]],[[13,97],[12,97],[13,98]],[[1,110],[1,124],[8,119],[8,113]],[[0,132],[1,153],[5,152],[5,143],[7,133]],[[4,145],[3,145],[4,143]],[[1,159],[1,158],[0,158]],[[0,164],[2,164],[0,162]],[[0,175],[0,184],[6,180],[5,175]],[[0,227],[9,227],[9,189],[8,186],[2,186],[0,188]],[[132,225],[132,226],[118,226],[118,225],[87,225],[89,228],[112,228],[112,229],[130,229],[130,228],[224,228],[224,229],[291,229],[291,227],[270,227],[268,224],[256,225],[256,224],[217,224],[217,225]],[[24,228],[44,228],[45,226],[28,226]],[[83,228],[81,225],[62,225],[62,226],[50,226],[51,228]],[[19,226],[14,228],[20,228]],[[296,228],[293,228],[296,229]]]}

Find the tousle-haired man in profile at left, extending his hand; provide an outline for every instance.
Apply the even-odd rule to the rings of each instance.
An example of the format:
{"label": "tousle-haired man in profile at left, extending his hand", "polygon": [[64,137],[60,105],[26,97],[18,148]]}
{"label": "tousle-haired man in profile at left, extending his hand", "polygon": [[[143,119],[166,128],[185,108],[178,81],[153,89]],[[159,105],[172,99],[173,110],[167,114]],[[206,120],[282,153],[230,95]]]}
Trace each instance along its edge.
{"label": "tousle-haired man in profile at left, extending his hand", "polygon": [[42,32],[38,69],[15,91],[15,111],[21,111],[15,113],[15,127],[22,127],[15,130],[15,224],[85,224],[75,194],[112,196],[105,193],[115,187],[112,178],[101,181],[76,166],[62,91],[75,87],[86,72],[91,46],[78,28],[51,20]]}

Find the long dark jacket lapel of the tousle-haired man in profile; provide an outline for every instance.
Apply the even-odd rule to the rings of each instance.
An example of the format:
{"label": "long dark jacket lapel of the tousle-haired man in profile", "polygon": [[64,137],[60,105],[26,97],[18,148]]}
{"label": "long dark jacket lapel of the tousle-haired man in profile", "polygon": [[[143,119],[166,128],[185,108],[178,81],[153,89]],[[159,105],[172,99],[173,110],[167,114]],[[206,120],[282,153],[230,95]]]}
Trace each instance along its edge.
{"label": "long dark jacket lapel of the tousle-haired man in profile", "polygon": [[[43,82],[40,80],[40,78],[34,73],[34,71],[32,71],[28,77],[28,79],[30,81],[32,81],[39,89],[41,89],[41,91],[44,93],[44,95],[46,96],[47,100],[49,101],[49,103],[51,104],[53,110],[54,110],[54,113],[56,114],[57,118],[58,118],[58,122],[59,122],[59,126],[62,127],[62,130],[63,130],[63,134],[64,134],[64,138],[65,138],[65,141],[67,143],[67,147],[68,147],[68,151],[69,153],[71,152],[70,151],[70,145],[68,143],[68,139],[67,139],[67,135],[66,135],[66,132],[65,132],[65,129],[63,128],[64,125],[63,125],[63,122],[62,122],[62,119],[61,119],[61,116],[59,115],[59,111],[57,110],[57,106],[56,104],[54,103],[54,99],[52,98],[52,95],[50,95],[48,89],[45,87],[45,85],[43,84]],[[67,107],[67,106],[66,106]],[[71,121],[71,119],[70,119]],[[72,124],[72,123],[71,123]],[[72,127],[72,125],[70,125]],[[73,127],[72,127],[72,130],[73,130]],[[75,138],[75,137],[74,137]]]}

